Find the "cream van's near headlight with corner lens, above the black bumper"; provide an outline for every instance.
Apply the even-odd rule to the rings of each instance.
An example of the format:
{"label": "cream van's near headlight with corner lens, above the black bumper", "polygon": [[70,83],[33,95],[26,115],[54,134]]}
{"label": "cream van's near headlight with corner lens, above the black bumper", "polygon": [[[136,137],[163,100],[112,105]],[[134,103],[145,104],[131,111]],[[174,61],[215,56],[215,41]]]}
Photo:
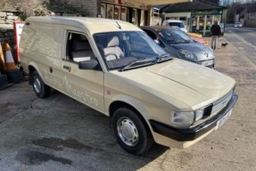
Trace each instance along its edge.
{"label": "cream van's near headlight with corner lens, above the black bumper", "polygon": [[204,109],[194,111],[172,111],[170,121],[172,125],[178,127],[191,126],[198,120],[202,119]]}

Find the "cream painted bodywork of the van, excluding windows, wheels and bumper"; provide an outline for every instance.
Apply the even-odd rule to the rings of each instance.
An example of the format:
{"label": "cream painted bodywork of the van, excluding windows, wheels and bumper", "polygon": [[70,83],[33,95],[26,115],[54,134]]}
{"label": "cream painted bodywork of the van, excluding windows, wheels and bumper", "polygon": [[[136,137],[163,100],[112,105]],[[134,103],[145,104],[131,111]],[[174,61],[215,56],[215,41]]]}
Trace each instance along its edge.
{"label": "cream painted bodywork of the van, excluding windows, wheels and bumper", "polygon": [[[171,111],[200,109],[216,102],[235,86],[231,77],[178,59],[123,72],[108,71],[93,36],[111,31],[142,31],[128,22],[119,20],[117,24],[114,20],[65,17],[33,17],[27,22],[29,27],[24,27],[20,45],[21,65],[26,72],[29,66],[34,67],[46,85],[107,116],[111,115],[112,102],[128,103],[145,118],[154,141],[163,145],[185,148],[212,130],[193,142],[177,142],[154,133],[149,119],[172,126]],[[49,30],[52,32],[48,33]],[[102,71],[78,69],[78,63],[65,59],[69,30],[87,36]],[[63,69],[64,66],[70,70]]]}

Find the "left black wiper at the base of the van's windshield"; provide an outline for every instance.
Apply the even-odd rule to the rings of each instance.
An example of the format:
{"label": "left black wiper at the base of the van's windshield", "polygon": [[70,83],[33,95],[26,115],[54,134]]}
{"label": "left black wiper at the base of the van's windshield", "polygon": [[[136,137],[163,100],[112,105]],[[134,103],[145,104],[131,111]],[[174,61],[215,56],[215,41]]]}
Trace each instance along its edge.
{"label": "left black wiper at the base of the van's windshield", "polygon": [[134,69],[136,67],[142,67],[142,66],[150,65],[150,64],[154,64],[154,63],[155,63],[155,60],[153,58],[143,58],[143,59],[138,59],[136,61],[132,61],[132,62],[128,63],[128,65],[125,65],[124,67],[122,67],[119,70],[124,71],[127,69]]}

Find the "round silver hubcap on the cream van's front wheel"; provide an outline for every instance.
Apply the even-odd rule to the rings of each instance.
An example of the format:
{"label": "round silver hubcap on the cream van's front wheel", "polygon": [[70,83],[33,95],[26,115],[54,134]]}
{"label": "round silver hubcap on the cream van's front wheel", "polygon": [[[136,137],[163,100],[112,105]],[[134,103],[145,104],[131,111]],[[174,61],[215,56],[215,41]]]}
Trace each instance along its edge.
{"label": "round silver hubcap on the cream van's front wheel", "polygon": [[122,142],[128,146],[135,146],[139,140],[136,125],[130,118],[121,117],[117,122],[118,134]]}

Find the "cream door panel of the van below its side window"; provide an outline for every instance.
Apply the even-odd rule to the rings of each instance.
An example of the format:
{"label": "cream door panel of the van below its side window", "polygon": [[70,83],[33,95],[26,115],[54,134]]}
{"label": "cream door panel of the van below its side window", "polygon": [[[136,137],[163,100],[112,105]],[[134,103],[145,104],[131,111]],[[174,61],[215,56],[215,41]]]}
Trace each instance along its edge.
{"label": "cream door panel of the van below its side window", "polygon": [[70,71],[63,69],[62,75],[64,93],[83,102],[88,106],[104,112],[103,102],[103,72],[88,69],[78,69],[78,63],[62,61],[62,66],[70,67]]}

